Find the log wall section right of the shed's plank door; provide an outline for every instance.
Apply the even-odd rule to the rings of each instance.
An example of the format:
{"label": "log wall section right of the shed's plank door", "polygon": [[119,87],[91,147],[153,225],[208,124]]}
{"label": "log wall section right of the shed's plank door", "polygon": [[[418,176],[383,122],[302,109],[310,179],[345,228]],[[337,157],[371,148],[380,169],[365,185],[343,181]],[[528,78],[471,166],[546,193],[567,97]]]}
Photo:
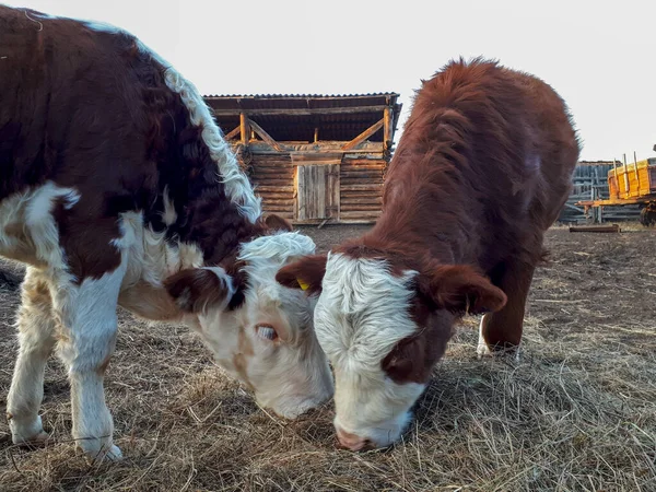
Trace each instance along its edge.
{"label": "log wall section right of the shed's plank door", "polygon": [[375,222],[383,206],[384,159],[349,159],[340,169],[340,222]]}

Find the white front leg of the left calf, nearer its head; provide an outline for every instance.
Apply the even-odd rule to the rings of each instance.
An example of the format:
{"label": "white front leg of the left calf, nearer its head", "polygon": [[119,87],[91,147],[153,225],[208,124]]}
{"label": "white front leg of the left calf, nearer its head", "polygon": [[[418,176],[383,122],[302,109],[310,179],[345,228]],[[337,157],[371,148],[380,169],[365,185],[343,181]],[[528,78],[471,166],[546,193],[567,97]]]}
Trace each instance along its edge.
{"label": "white front leg of the left calf, nearer its head", "polygon": [[92,461],[121,458],[113,445],[114,422],[103,380],[116,344],[116,308],[125,270],[124,262],[101,279],[85,279],[80,286],[69,283],[55,298],[63,329],[59,356],[71,383],[72,434]]}

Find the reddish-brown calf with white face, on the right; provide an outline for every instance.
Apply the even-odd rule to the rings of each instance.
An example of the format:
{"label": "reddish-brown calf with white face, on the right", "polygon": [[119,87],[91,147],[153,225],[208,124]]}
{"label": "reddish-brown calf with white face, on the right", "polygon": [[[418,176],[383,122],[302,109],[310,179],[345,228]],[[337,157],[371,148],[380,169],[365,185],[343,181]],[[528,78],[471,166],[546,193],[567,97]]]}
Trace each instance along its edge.
{"label": "reddish-brown calf with white face, on the right", "polygon": [[477,59],[423,83],[373,230],[277,276],[320,294],[344,446],[399,438],[461,314],[488,313],[479,353],[519,344],[578,152],[565,104],[534,77]]}

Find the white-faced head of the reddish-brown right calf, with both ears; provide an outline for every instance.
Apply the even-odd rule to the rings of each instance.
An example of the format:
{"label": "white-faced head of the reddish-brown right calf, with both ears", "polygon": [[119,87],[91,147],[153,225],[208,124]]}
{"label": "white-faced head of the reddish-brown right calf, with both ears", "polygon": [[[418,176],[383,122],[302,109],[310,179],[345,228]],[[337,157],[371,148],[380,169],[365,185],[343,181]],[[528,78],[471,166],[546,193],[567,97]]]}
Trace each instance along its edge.
{"label": "white-faced head of the reddish-brown right calf, with both ears", "polygon": [[320,294],[315,330],[335,371],[335,427],[353,450],[399,438],[459,314],[499,311],[506,302],[468,266],[417,270],[343,253],[303,258],[277,280]]}

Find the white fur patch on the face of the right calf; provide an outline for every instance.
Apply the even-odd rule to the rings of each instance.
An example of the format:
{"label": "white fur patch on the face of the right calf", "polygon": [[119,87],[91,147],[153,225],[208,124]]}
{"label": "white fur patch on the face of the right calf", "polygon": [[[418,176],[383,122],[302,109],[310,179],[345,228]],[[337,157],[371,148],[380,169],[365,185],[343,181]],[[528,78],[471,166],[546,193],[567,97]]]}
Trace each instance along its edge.
{"label": "white fur patch on the face of the right calf", "polygon": [[408,311],[415,274],[395,277],[382,260],[329,255],[315,308],[317,338],[335,368],[336,426],[377,446],[398,438],[425,387],[399,385],[382,367],[396,343],[417,331]]}

